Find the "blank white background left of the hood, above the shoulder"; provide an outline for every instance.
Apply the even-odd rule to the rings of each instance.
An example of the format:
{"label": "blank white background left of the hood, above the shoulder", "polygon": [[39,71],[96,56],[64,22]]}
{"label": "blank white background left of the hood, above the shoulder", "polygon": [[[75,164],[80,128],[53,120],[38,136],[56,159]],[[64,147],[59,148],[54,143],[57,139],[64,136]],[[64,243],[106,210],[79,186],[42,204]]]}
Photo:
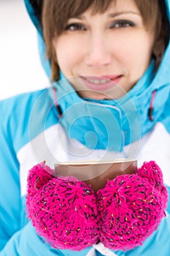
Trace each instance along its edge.
{"label": "blank white background left of the hood, above the shoulder", "polygon": [[48,85],[23,0],[0,0],[0,99]]}

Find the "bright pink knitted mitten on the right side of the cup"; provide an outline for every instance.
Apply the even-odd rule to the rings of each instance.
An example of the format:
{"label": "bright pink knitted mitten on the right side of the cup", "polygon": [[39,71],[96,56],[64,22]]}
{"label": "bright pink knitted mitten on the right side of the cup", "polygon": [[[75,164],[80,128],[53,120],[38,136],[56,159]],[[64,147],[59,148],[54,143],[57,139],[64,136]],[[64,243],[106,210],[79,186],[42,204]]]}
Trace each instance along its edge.
{"label": "bright pink knitted mitten on the right side of the cup", "polygon": [[117,176],[97,192],[99,238],[111,249],[133,249],[165,217],[168,193],[160,167],[144,162],[136,174]]}

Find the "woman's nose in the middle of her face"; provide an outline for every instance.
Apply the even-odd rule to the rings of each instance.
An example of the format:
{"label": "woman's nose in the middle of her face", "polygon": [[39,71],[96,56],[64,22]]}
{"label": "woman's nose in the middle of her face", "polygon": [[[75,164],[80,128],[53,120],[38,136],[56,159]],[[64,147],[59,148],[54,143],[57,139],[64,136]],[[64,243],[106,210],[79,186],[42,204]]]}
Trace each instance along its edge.
{"label": "woman's nose in the middle of her face", "polygon": [[102,67],[111,63],[112,53],[109,42],[102,33],[90,34],[85,62],[89,67]]}

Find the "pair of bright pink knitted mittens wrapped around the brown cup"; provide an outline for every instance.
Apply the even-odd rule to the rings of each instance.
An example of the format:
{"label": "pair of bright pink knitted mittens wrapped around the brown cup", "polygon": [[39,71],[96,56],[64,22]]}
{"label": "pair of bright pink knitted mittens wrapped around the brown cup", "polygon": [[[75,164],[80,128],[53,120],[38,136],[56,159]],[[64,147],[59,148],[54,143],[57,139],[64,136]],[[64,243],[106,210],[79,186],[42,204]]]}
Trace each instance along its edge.
{"label": "pair of bright pink knitted mittens wrapped around the brown cup", "polygon": [[37,233],[53,247],[81,250],[101,241],[133,249],[157,229],[168,201],[160,167],[144,162],[95,193],[74,177],[53,177],[41,163],[28,174],[26,206]]}

